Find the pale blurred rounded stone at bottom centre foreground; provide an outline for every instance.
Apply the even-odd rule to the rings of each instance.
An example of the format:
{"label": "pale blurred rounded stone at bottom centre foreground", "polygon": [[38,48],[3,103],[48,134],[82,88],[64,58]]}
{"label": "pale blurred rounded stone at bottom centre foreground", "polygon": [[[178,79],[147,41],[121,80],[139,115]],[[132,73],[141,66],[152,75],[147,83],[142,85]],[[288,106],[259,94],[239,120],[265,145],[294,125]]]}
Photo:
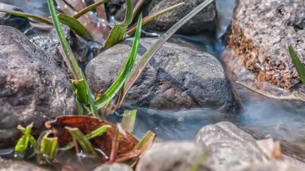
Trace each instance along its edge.
{"label": "pale blurred rounded stone at bottom centre foreground", "polygon": [[211,170],[207,167],[209,162],[209,149],[189,141],[168,141],[148,149],[139,159],[136,171],[163,171],[191,170],[199,164],[198,170]]}

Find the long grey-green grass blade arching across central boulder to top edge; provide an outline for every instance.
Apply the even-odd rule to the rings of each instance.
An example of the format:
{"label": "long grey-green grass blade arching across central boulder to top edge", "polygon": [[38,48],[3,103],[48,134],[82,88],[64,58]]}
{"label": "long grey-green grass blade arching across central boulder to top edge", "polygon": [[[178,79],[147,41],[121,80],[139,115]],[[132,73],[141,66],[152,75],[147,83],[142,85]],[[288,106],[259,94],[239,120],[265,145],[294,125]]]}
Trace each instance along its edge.
{"label": "long grey-green grass blade arching across central boulder to top edge", "polygon": [[194,8],[191,12],[189,12],[186,16],[180,19],[175,25],[173,25],[167,32],[165,32],[151,47],[147,49],[147,51],[142,55],[139,62],[136,66],[132,69],[131,73],[129,74],[125,84],[124,84],[124,91],[122,94],[121,101],[119,101],[118,105],[122,103],[122,100],[126,96],[128,90],[133,85],[135,80],[139,77],[139,75],[144,70],[144,67],[154,56],[154,54],[159,50],[159,48],[180,28],[182,27],[188,20],[190,20],[193,16],[195,16],[198,12],[200,12],[203,8],[205,8],[208,4],[210,4],[213,0],[205,0],[196,8]]}

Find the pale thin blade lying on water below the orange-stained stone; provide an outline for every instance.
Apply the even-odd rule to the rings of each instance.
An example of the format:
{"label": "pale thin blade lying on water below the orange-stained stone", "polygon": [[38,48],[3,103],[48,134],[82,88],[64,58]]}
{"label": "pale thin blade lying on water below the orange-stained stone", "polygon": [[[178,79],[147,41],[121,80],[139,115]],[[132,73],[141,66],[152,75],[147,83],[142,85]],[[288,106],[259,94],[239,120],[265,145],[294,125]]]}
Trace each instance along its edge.
{"label": "pale thin blade lying on water below the orange-stained stone", "polygon": [[273,95],[269,92],[265,92],[265,91],[262,91],[260,89],[257,89],[257,88],[254,88],[254,87],[251,87],[251,86],[248,86],[246,84],[243,84],[241,82],[238,82],[236,81],[236,83],[240,84],[241,86],[251,90],[251,91],[254,91],[258,94],[261,94],[261,95],[264,95],[266,97],[269,97],[269,98],[275,98],[275,99],[299,99],[299,100],[302,100],[302,101],[305,101],[305,98],[304,98],[304,94],[301,93],[301,92],[295,92],[295,93],[292,93],[291,95],[282,95],[282,96],[278,96],[278,95]]}

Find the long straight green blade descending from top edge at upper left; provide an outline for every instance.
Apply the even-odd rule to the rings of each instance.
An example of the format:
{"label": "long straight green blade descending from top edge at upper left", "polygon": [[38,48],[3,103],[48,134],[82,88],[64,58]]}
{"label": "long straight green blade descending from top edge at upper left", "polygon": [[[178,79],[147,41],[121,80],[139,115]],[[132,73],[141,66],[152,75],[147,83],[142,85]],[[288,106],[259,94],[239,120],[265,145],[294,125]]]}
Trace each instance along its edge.
{"label": "long straight green blade descending from top edge at upper left", "polygon": [[63,30],[60,27],[59,19],[57,17],[57,13],[55,11],[55,5],[54,5],[53,0],[48,0],[48,5],[49,5],[49,10],[50,10],[50,14],[51,14],[51,17],[52,17],[52,20],[53,20],[54,27],[56,29],[56,32],[57,32],[59,40],[60,40],[60,44],[62,45],[62,47],[65,51],[65,54],[66,54],[67,59],[69,61],[68,64],[72,68],[73,75],[76,79],[82,79],[82,75],[80,73],[78,63],[77,63],[77,61],[76,61],[76,59],[73,55],[73,52],[72,52],[72,50],[71,50],[71,48],[70,48],[70,46],[69,46],[69,44],[68,44],[68,42],[65,38]]}

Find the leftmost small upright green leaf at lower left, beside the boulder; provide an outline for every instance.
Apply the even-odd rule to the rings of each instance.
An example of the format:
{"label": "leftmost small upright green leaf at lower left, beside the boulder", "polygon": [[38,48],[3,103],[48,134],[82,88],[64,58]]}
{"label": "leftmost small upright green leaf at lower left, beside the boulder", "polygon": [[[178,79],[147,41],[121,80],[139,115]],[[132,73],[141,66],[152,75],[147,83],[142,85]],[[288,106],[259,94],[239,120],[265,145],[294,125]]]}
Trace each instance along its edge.
{"label": "leftmost small upright green leaf at lower left, beside the boulder", "polygon": [[[22,126],[18,126],[22,127]],[[18,140],[16,146],[15,146],[15,155],[18,157],[24,157],[25,151],[28,148],[29,140],[30,140],[30,134],[32,131],[33,123],[29,124],[26,128],[24,128],[24,135]],[[22,129],[22,128],[21,128]]]}

